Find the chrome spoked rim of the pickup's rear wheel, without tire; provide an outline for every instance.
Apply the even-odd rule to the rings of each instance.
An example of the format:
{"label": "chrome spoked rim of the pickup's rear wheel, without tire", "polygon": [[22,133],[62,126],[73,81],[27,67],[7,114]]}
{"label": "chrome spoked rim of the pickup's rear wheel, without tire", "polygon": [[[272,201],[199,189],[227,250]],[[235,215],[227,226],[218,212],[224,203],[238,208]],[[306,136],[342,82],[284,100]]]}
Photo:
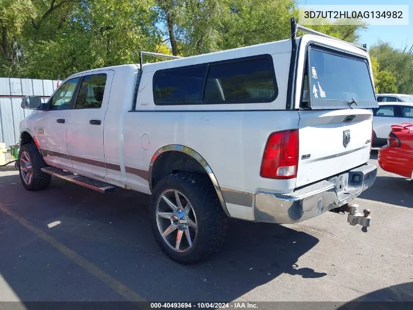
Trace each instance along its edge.
{"label": "chrome spoked rim of the pickup's rear wheel, without tire", "polygon": [[188,198],[180,191],[163,191],[156,202],[156,223],[166,244],[177,252],[187,252],[197,237],[197,221]]}

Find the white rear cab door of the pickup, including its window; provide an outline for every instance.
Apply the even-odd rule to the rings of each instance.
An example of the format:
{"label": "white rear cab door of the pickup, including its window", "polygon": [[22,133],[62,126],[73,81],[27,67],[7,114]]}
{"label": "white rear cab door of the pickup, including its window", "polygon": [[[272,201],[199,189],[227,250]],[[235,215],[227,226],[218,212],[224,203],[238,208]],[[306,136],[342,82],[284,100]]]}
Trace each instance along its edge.
{"label": "white rear cab door of the pickup, including its window", "polygon": [[79,92],[67,122],[67,148],[75,171],[105,177],[103,127],[113,71],[97,71],[79,78]]}

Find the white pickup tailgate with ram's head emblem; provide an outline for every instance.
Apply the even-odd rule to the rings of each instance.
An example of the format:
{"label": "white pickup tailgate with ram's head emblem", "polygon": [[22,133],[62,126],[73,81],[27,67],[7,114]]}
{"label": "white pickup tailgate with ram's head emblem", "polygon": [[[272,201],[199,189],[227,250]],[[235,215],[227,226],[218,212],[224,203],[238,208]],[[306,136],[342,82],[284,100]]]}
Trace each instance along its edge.
{"label": "white pickup tailgate with ram's head emblem", "polygon": [[363,165],[370,158],[372,112],[367,109],[299,111],[296,187]]}

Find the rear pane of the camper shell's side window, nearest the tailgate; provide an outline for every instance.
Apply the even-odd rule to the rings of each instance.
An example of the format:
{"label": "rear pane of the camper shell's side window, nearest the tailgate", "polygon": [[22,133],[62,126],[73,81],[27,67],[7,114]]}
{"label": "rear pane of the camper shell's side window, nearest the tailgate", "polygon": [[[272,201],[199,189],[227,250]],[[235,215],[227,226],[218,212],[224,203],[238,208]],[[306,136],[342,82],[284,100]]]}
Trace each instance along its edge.
{"label": "rear pane of the camper shell's side window, nearest the tailgate", "polygon": [[204,101],[211,103],[271,102],[277,96],[272,58],[211,65]]}

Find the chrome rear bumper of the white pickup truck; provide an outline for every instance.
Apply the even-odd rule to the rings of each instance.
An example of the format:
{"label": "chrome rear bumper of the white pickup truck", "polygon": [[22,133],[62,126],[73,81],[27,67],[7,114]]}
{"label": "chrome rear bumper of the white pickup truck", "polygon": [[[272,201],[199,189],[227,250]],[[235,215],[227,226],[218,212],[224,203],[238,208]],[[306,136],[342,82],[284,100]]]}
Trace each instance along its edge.
{"label": "chrome rear bumper of the white pickup truck", "polygon": [[366,164],[337,177],[288,194],[258,192],[254,215],[257,222],[298,223],[341,207],[373,185],[377,167]]}

